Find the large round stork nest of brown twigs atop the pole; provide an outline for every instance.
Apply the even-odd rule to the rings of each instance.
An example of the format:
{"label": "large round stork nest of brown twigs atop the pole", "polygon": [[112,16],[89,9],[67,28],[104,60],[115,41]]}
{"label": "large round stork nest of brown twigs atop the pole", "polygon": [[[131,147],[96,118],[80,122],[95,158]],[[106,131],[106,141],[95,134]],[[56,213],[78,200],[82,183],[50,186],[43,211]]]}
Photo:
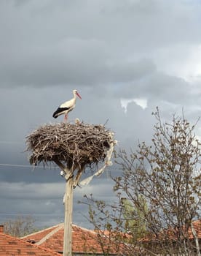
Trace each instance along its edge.
{"label": "large round stork nest of brown twigs atop the pole", "polygon": [[92,167],[104,161],[112,142],[103,125],[46,124],[26,137],[31,165],[63,162],[66,167]]}

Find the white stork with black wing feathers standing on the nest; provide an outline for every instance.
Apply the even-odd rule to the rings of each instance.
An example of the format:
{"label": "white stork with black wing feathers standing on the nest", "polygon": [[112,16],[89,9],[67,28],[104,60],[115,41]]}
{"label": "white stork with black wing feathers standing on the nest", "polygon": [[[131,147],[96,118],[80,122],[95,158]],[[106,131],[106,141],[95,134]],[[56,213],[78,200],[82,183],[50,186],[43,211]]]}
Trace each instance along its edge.
{"label": "white stork with black wing feathers standing on the nest", "polygon": [[60,115],[65,115],[64,116],[64,121],[67,121],[68,118],[68,112],[73,110],[76,105],[76,97],[78,96],[79,99],[82,99],[82,97],[79,95],[78,91],[74,90],[73,91],[74,97],[73,99],[68,100],[68,102],[64,102],[61,104],[58,109],[53,113],[53,117],[57,118]]}

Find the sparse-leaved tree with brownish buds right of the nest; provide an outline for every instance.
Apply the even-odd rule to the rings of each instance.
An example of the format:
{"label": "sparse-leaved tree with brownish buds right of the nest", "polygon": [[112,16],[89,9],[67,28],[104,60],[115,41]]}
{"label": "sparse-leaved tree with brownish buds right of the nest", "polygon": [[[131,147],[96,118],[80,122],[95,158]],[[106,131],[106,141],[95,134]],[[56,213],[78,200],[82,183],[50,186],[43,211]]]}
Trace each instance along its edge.
{"label": "sparse-leaved tree with brownish buds right of the nest", "polygon": [[[127,225],[130,230],[123,240],[133,244],[130,248],[135,255],[139,251],[139,255],[200,255],[193,228],[193,220],[200,217],[201,200],[201,145],[194,135],[196,124],[191,126],[184,116],[173,116],[171,123],[163,124],[158,108],[153,115],[157,124],[151,145],[143,142],[130,155],[123,150],[118,153],[122,169],[122,176],[114,178],[118,203],[106,206],[87,197],[90,221],[98,230],[112,230],[117,241],[130,217],[134,223],[143,223],[143,239],[139,239],[139,230]],[[125,214],[122,197],[133,206],[130,215]],[[189,230],[194,239],[189,238]],[[127,255],[132,252],[128,250]]]}

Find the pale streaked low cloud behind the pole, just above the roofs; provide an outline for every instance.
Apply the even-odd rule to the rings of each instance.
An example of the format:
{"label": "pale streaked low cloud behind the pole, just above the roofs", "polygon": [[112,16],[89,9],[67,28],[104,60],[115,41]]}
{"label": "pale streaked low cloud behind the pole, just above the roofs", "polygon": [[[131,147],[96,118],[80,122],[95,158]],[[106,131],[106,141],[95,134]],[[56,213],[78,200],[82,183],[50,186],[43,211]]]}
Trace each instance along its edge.
{"label": "pale streaked low cloud behind the pole, just above the roofs", "polygon": [[[106,176],[106,175],[104,175]],[[77,187],[74,190],[74,222],[78,225],[89,227],[87,223],[87,206],[84,202],[84,194],[92,193],[94,197],[114,202],[111,180],[105,177],[100,184],[100,178],[96,178],[86,187]],[[1,222],[20,215],[31,215],[36,219],[36,225],[56,225],[63,222],[63,194],[65,181],[60,183],[25,183],[25,182],[0,182]],[[48,220],[47,220],[48,219]]]}

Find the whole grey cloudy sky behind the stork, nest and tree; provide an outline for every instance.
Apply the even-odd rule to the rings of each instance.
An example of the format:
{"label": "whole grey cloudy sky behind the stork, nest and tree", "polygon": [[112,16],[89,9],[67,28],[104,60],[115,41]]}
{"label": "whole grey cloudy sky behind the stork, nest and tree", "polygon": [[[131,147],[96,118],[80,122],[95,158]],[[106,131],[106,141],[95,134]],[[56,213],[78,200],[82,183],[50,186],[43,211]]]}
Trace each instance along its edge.
{"label": "whole grey cloudy sky behind the stork, nest and tree", "polygon": [[[77,89],[68,121],[105,124],[118,148],[149,141],[156,106],[193,123],[201,113],[200,0],[0,1],[0,223],[31,214],[63,222],[65,181],[29,167],[25,137]],[[198,125],[197,135],[201,135]],[[74,191],[74,223],[88,227],[84,194],[114,200],[109,172]]]}

